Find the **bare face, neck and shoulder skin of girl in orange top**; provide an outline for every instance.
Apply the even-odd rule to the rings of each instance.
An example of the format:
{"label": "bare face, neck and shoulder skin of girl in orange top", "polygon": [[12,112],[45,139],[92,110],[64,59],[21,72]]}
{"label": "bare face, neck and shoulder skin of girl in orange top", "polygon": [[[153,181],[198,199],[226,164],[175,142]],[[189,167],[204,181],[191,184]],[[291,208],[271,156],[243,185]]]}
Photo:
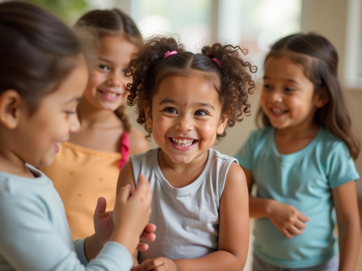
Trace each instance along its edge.
{"label": "bare face, neck and shoulder skin of girl in orange top", "polygon": [[[137,47],[123,35],[103,36],[99,40],[97,64],[77,108],[80,129],[69,141],[89,149],[119,152],[123,123],[113,113],[128,96],[125,76],[131,53]],[[110,94],[110,95],[107,95]],[[130,155],[148,150],[148,142],[138,130],[131,129]]]}

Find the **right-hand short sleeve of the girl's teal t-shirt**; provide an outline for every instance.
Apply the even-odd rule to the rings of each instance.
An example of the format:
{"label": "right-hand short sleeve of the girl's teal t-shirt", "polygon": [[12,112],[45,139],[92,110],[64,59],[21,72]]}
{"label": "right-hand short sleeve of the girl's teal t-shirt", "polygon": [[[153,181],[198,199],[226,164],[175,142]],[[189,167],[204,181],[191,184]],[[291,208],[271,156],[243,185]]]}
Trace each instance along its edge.
{"label": "right-hand short sleeve of the girl's teal t-shirt", "polygon": [[328,154],[327,178],[331,188],[359,179],[349,150],[343,142],[336,142]]}

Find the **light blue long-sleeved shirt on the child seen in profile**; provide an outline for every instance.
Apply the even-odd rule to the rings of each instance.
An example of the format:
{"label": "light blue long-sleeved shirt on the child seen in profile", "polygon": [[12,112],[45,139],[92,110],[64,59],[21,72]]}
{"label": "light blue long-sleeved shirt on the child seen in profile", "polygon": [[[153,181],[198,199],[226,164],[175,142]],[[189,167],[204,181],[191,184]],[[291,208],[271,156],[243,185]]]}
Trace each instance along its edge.
{"label": "light blue long-sleeved shirt on the child seen in profile", "polygon": [[117,242],[88,263],[85,239],[73,242],[51,180],[27,167],[35,178],[0,172],[0,271],[129,271],[132,257]]}

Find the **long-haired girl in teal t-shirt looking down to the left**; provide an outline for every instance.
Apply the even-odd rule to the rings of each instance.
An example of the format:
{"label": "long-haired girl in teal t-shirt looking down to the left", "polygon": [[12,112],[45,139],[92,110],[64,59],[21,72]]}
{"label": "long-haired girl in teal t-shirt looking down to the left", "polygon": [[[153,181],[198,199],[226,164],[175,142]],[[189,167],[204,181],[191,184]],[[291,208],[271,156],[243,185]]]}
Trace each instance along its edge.
{"label": "long-haired girl in teal t-shirt looking down to the left", "polygon": [[337,62],[332,44],[316,34],[287,36],[266,56],[265,128],[252,132],[236,155],[249,192],[257,185],[256,197],[249,197],[250,216],[257,218],[254,271],[355,270],[359,142]]}

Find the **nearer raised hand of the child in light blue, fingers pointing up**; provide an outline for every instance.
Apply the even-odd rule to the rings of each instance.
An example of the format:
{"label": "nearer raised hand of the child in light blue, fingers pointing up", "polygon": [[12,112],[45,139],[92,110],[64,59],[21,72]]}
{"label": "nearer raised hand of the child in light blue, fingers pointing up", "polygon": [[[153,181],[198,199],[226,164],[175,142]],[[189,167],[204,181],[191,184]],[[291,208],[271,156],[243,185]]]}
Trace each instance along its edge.
{"label": "nearer raised hand of the child in light blue, fingers pointing up", "polygon": [[148,223],[151,198],[151,186],[142,174],[133,194],[130,185],[119,191],[113,211],[114,232],[110,240],[121,243],[130,253],[137,248],[139,238]]}

